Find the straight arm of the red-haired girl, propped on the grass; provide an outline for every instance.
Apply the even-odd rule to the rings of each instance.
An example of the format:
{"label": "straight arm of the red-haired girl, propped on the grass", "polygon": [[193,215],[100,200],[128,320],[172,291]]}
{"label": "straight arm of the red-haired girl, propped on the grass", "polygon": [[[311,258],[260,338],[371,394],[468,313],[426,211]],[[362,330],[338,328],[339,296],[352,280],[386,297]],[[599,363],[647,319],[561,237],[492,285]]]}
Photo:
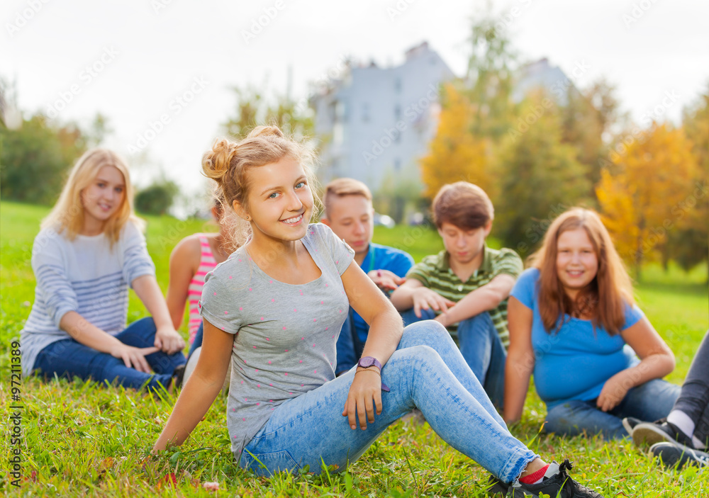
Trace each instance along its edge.
{"label": "straight arm of the red-haired girl, propped on the grass", "polygon": [[515,422],[522,418],[530,376],[534,370],[532,319],[532,310],[517,298],[510,298],[507,303],[510,347],[505,363],[505,404],[503,409],[503,418],[507,422]]}

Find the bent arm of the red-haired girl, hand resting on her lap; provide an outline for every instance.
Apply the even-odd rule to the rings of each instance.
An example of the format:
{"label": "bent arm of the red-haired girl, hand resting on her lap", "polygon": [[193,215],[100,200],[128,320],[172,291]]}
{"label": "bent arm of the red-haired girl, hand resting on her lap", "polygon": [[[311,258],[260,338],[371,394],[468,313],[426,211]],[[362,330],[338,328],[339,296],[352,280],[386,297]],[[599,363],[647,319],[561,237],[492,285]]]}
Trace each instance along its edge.
{"label": "bent arm of the red-haired girl, hand resting on her lap", "polygon": [[628,390],[648,380],[662,378],[674,370],[674,353],[652,327],[647,317],[620,332],[626,344],[640,357],[640,363],[626,368],[605,381],[596,405],[603,412],[620,403]]}

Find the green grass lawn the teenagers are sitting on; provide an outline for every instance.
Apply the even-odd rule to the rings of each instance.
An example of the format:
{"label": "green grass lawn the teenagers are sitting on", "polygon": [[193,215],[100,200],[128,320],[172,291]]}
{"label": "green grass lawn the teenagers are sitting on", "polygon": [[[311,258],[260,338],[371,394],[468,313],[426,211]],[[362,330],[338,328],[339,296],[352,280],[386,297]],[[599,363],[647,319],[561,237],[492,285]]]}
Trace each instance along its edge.
{"label": "green grass lawn the teenagers are sitting on", "polygon": [[[46,208],[0,203],[0,340],[3,407],[9,392],[9,344],[18,338],[34,300],[30,268],[32,242]],[[148,250],[162,288],[167,285],[169,253],[186,234],[211,231],[203,222],[147,217]],[[406,249],[417,261],[442,248],[432,230],[377,227],[375,240]],[[491,245],[497,245],[491,241]],[[644,268],[637,297],[644,312],[676,352],[677,368],[669,380],[681,383],[705,330],[709,327],[706,267],[669,273]],[[145,315],[131,293],[129,321]],[[185,330],[182,330],[186,334]],[[252,477],[240,470],[229,451],[225,397],[218,397],[205,419],[182,448],[158,458],[145,457],[160,434],[174,399],[150,397],[121,387],[79,380],[36,378],[22,381],[23,431],[21,487],[0,475],[0,489],[11,496],[459,496],[483,497],[487,472],[447,446],[428,424],[399,421],[346,472]],[[6,410],[7,412],[7,410]],[[605,443],[601,438],[559,438],[538,434],[544,420],[542,402],[530,390],[523,421],[513,434],[545,458],[569,458],[571,474],[605,497],[699,497],[709,494],[709,472],[688,468],[664,470],[632,443]],[[0,449],[10,455],[9,414],[0,421]],[[463,428],[464,429],[464,428]],[[5,468],[4,468],[5,469]],[[174,473],[177,485],[165,475]],[[219,482],[218,492],[201,487]]]}

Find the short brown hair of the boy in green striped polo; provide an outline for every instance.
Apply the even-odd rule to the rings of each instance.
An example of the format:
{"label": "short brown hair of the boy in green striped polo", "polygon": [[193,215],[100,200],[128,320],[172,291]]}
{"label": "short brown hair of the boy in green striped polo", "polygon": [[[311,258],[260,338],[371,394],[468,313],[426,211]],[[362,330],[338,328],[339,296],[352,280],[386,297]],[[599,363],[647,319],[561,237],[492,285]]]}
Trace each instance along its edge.
{"label": "short brown hair of the boy in green striped polo", "polygon": [[495,210],[485,191],[467,181],[442,186],[433,199],[432,210],[433,221],[438,228],[450,223],[464,230],[475,230],[495,217]]}

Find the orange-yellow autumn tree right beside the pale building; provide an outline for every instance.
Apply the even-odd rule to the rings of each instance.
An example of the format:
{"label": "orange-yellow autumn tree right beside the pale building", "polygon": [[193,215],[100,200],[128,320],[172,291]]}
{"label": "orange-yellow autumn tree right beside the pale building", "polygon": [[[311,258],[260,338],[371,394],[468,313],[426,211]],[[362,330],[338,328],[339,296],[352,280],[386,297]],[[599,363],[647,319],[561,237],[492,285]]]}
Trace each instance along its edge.
{"label": "orange-yellow autumn tree right beside the pale building", "polygon": [[420,159],[424,195],[433,198],[446,183],[469,181],[489,191],[491,172],[486,142],[471,131],[474,109],[470,101],[452,84],[442,92],[442,111],[428,155]]}

